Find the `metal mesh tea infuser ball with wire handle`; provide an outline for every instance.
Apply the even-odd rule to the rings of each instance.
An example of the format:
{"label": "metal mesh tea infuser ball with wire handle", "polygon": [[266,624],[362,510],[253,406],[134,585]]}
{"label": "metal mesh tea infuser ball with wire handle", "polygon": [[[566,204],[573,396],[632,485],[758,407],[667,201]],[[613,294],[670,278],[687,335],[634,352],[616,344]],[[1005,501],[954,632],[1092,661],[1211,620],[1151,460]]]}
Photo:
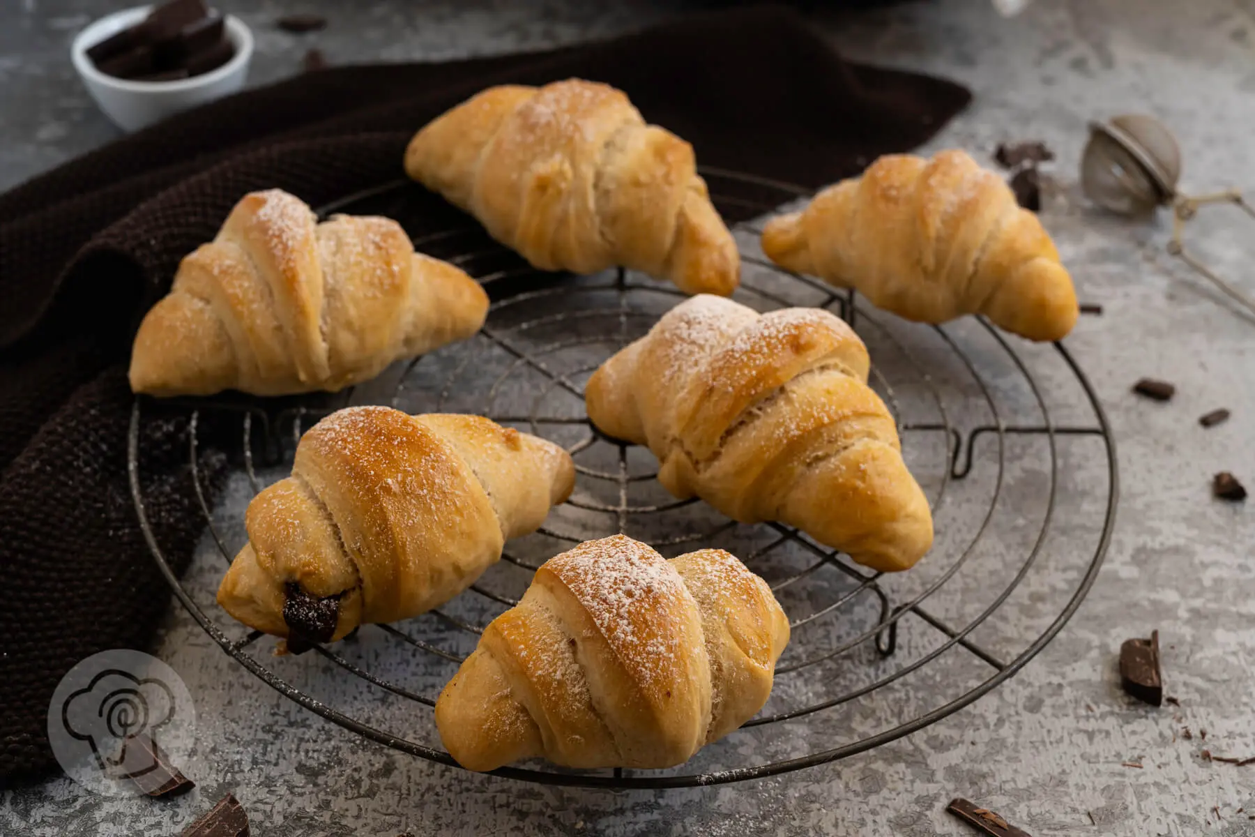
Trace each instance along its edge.
{"label": "metal mesh tea infuser ball with wire handle", "polygon": [[1255,314],[1255,301],[1211,272],[1185,248],[1185,225],[1209,203],[1232,203],[1255,218],[1237,189],[1188,197],[1177,192],[1181,149],[1167,127],[1155,117],[1127,114],[1089,123],[1089,142],[1081,157],[1081,188],[1094,203],[1126,216],[1150,215],[1172,207],[1168,255],[1209,279],[1234,301]]}

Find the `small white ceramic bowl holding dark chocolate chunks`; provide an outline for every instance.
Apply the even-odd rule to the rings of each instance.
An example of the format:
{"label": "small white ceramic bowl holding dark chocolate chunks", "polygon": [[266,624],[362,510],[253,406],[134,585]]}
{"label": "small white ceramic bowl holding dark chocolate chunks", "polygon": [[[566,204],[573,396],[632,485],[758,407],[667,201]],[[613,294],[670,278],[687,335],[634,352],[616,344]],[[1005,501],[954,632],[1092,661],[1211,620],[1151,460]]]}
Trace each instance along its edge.
{"label": "small white ceramic bowl holding dark chocolate chunks", "polygon": [[80,31],[70,46],[70,58],[88,93],[107,117],[123,131],[138,131],[166,117],[230,95],[243,87],[252,60],[252,33],[238,18],[227,15],[226,36],[235,45],[231,60],[187,79],[131,82],[95,69],[87,50],[114,33],[143,20],[152,6],[136,6],[105,15]]}

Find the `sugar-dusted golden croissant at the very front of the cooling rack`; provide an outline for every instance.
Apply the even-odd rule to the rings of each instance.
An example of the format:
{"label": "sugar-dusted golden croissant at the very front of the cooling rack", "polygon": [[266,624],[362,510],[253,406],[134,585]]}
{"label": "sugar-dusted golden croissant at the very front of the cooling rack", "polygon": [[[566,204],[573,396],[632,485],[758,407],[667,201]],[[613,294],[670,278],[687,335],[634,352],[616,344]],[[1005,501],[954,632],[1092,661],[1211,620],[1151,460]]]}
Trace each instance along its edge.
{"label": "sugar-dusted golden croissant at the very front of the cooling rack", "polygon": [[537,755],[671,767],[762,709],[788,634],[767,584],[723,550],[665,561],[622,535],[587,541],[484,629],[435,725],[472,770]]}

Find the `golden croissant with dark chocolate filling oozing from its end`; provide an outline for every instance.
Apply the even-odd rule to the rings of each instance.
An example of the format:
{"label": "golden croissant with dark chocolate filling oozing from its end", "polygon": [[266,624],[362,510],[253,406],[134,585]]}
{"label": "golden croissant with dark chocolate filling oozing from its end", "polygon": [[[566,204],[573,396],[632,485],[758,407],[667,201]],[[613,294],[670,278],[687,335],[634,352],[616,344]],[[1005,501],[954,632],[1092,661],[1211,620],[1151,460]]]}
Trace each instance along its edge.
{"label": "golden croissant with dark chocolate filling oozing from its end", "polygon": [[301,437],[292,476],[248,503],[218,604],[290,646],[417,616],[473,584],[574,482],[566,450],[478,415],[338,410]]}

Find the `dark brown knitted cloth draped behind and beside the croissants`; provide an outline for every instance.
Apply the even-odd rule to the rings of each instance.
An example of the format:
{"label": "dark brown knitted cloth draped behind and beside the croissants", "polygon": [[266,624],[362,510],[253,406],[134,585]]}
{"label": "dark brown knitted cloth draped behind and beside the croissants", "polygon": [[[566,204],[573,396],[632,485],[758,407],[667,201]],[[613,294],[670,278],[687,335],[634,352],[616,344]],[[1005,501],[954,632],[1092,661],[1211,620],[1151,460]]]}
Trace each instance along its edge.
{"label": "dark brown knitted cloth draped behind and beside the croissants", "polygon": [[[738,9],[552,53],[302,75],[171,119],[0,196],[0,786],[54,767],[48,701],[78,660],[143,648],[169,594],[127,479],[131,336],[247,191],[318,206],[402,176],[418,127],[497,83],[624,89],[704,164],[820,186],[927,139],[969,94],[847,64],[789,11]],[[186,419],[144,408],[149,522],[200,537]],[[186,414],[186,412],[184,412]],[[203,448],[212,493],[226,458]]]}

